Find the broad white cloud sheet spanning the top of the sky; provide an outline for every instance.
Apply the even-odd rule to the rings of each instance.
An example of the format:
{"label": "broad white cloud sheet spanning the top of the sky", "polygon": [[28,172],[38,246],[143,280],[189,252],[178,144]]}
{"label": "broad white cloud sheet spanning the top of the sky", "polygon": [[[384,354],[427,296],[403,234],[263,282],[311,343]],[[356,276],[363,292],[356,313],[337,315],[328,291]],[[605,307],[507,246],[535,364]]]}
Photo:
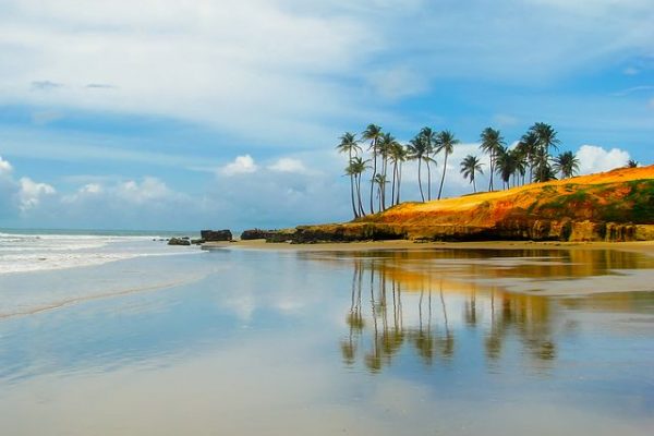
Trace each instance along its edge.
{"label": "broad white cloud sheet spanning the top of the sky", "polygon": [[410,3],[145,0],[142,14],[128,0],[8,0],[0,93],[9,104],[165,116],[279,145],[370,121],[379,98],[443,78],[541,83],[654,49],[651,1]]}

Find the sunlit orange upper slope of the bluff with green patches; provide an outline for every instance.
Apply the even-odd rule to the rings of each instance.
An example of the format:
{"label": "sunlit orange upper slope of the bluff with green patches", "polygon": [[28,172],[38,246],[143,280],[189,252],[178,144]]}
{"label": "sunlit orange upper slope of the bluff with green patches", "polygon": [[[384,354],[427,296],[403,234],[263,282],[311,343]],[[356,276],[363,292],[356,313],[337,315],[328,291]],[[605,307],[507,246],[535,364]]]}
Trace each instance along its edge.
{"label": "sunlit orange upper slope of the bluff with green patches", "polygon": [[[493,214],[482,214],[494,209]],[[504,210],[504,211],[501,211]],[[497,214],[499,211],[499,215]],[[635,169],[617,169],[546,183],[533,183],[507,191],[469,194],[427,203],[408,202],[384,213],[367,216],[363,222],[396,222],[408,219],[424,221],[437,216],[452,216],[468,221],[470,216],[492,221],[501,216],[541,219],[654,222],[654,166]],[[525,217],[525,218],[526,218]],[[416,222],[417,223],[417,222]]]}

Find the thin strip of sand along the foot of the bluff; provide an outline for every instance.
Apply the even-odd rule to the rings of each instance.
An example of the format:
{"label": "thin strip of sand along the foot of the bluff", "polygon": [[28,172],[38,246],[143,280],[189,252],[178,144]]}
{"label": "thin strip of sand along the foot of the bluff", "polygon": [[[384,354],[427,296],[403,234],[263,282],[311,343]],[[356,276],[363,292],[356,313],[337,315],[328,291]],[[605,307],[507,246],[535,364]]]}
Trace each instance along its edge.
{"label": "thin strip of sand along the foot of the bluff", "polygon": [[206,242],[203,250],[237,249],[266,251],[372,251],[372,250],[617,250],[654,256],[654,241],[638,242],[558,242],[558,241],[480,241],[480,242],[413,242],[408,240],[326,242],[291,244],[249,240]]}

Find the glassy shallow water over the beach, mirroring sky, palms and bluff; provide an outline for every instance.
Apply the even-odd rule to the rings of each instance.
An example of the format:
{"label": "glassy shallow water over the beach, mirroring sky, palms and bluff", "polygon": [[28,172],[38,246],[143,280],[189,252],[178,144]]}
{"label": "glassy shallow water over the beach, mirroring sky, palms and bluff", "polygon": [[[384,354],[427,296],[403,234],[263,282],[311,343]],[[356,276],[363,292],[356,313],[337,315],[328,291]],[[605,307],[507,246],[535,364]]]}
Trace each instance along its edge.
{"label": "glassy shallow water over the beach, mirroring sky, palms and bluff", "polygon": [[652,268],[217,250],[0,276],[0,433],[649,435]]}

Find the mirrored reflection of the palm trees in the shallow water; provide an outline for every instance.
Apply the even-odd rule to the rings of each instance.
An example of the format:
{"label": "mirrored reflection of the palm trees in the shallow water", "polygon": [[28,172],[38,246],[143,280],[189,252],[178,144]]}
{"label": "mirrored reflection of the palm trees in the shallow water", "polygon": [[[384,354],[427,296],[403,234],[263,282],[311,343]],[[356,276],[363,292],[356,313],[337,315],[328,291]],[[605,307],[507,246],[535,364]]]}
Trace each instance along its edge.
{"label": "mirrored reflection of the palm trees in the shallow water", "polygon": [[[462,284],[445,275],[415,272],[399,264],[385,258],[353,259],[346,316],[349,330],[341,340],[347,365],[361,362],[367,371],[378,373],[400,354],[401,359],[414,355],[426,367],[452,364],[457,336],[464,328],[479,334],[475,347],[489,366],[501,359],[507,340],[518,342],[522,354],[535,362],[556,359],[547,299]],[[363,299],[363,294],[367,296]],[[364,304],[362,300],[368,298]]]}

